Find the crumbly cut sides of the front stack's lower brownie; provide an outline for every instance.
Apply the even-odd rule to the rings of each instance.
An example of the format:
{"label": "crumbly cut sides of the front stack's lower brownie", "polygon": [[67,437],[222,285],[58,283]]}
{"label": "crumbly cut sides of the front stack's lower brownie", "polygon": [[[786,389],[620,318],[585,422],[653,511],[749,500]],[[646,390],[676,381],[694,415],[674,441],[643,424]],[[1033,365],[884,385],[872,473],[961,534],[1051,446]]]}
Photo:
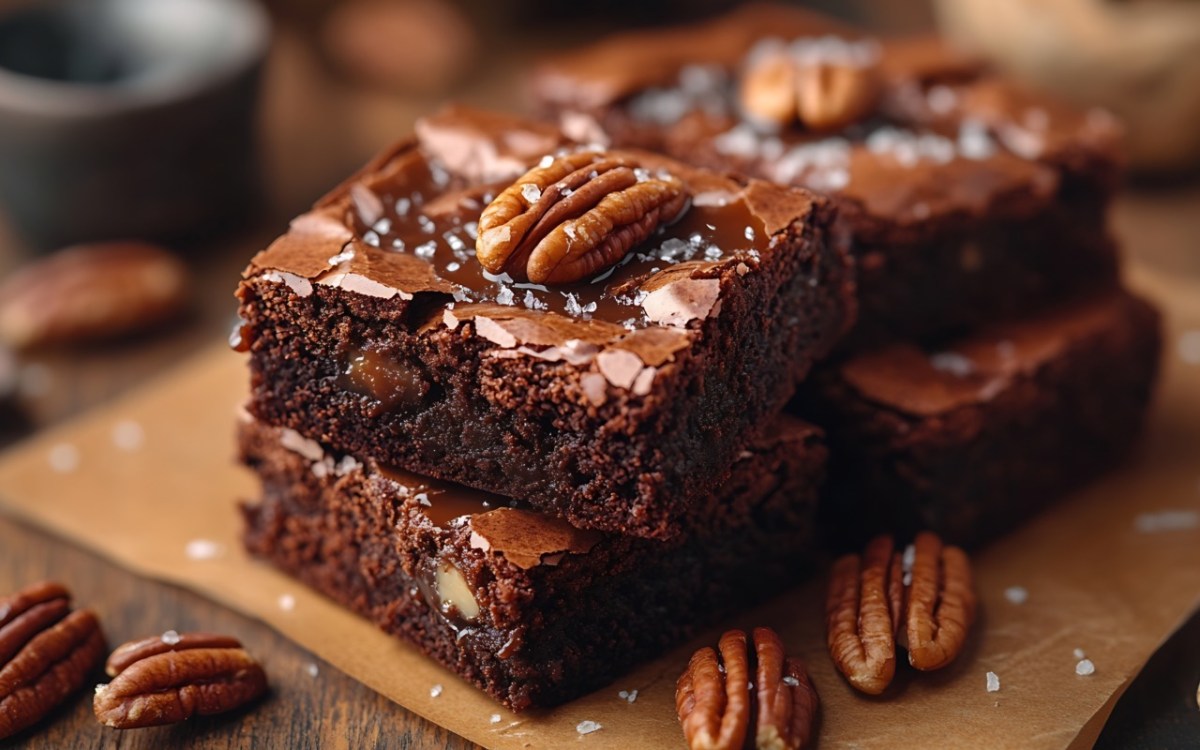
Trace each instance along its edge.
{"label": "crumbly cut sides of the front stack's lower brownie", "polygon": [[[776,593],[814,554],[824,460],[815,432],[743,462],[728,490],[752,496],[751,508],[734,527],[678,544],[607,535],[587,553],[528,570],[473,548],[464,526],[433,527],[378,475],[318,478],[274,432],[241,431],[244,461],[264,487],[259,503],[244,506],[247,548],[518,710],[611,682]],[[431,605],[419,570],[432,559],[454,560],[503,626],[462,628]]]}

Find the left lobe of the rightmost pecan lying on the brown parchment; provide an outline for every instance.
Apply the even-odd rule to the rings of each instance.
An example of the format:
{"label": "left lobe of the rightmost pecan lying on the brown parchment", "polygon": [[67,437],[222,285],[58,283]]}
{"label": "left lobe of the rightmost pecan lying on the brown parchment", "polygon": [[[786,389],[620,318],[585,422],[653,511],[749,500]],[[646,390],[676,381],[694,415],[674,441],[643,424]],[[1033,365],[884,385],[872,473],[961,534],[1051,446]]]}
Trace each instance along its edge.
{"label": "left lobe of the rightmost pecan lying on the brown parchment", "polygon": [[896,668],[895,634],[902,606],[900,556],[890,536],[877,536],[862,559],[833,565],[826,600],[829,655],[846,680],[869,695],[883,692]]}

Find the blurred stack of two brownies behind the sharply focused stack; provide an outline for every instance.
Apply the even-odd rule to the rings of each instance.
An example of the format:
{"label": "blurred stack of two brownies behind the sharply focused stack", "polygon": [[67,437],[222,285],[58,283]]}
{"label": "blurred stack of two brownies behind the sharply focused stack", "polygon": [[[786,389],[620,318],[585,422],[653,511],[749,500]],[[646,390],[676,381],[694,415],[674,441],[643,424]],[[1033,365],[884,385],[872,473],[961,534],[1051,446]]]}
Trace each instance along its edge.
{"label": "blurred stack of two brownies behind the sharply focused stack", "polygon": [[576,137],[839,210],[858,323],[793,406],[829,437],[828,544],[919,528],[979,544],[1129,452],[1159,322],[1120,288],[1105,113],[937,40],[762,5],[563,55],[533,91]]}

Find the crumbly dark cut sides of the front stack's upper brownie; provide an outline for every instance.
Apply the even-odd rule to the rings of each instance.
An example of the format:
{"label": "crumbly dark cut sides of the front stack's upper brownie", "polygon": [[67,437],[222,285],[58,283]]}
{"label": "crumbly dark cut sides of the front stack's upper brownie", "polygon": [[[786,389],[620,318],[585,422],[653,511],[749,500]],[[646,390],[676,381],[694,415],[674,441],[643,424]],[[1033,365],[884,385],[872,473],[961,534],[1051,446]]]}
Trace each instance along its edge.
{"label": "crumbly dark cut sides of the front stack's upper brownie", "polygon": [[[721,313],[700,343],[659,368],[646,396],[583,396],[584,371],[565,362],[487,354],[470,323],[414,332],[406,307],[318,286],[242,283],[256,331],[250,410],[416,473],[521,497],[583,528],[668,539],[710,493],[764,418],[779,410],[814,359],[853,317],[844,242],[832,209],[793,223],[758,270],[722,277]],[[342,390],[349,352],[370,346],[415,373],[427,406],[376,413]],[[406,376],[408,377],[408,376]]]}

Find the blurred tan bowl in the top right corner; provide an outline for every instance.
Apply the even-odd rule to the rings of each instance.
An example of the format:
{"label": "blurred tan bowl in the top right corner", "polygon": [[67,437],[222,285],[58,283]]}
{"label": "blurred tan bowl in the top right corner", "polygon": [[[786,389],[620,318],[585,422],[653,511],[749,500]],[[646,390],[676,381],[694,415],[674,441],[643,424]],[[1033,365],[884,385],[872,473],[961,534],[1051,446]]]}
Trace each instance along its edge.
{"label": "blurred tan bowl in the top right corner", "polygon": [[1076,104],[1111,109],[1141,172],[1200,167],[1200,2],[937,0],[943,32]]}

